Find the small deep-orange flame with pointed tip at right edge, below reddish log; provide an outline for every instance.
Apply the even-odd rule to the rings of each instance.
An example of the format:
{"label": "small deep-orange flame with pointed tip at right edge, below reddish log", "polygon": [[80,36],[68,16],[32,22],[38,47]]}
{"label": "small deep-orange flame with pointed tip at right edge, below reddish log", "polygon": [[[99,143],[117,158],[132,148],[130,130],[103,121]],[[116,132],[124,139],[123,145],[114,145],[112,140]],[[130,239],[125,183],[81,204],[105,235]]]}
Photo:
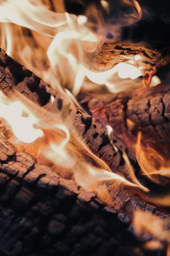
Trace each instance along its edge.
{"label": "small deep-orange flame with pointed tip at right edge, below reddish log", "polygon": [[170,161],[152,146],[148,145],[143,150],[141,135],[141,132],[139,132],[136,144],[136,159],[143,174],[147,175],[155,183],[160,183],[159,175],[170,177]]}

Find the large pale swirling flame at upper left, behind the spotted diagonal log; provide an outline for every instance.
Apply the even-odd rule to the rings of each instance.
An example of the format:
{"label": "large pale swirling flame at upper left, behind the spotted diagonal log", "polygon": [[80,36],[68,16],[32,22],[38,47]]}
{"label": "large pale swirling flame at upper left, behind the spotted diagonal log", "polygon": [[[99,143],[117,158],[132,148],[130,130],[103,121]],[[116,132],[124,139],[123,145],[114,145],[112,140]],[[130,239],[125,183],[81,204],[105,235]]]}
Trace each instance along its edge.
{"label": "large pale swirling flame at upper left, behind the spotted diagonal log", "polygon": [[[144,74],[140,56],[131,57],[127,61],[124,57],[123,63],[107,71],[94,71],[94,53],[105,30],[99,35],[88,27],[87,16],[64,13],[62,0],[52,3],[57,12],[63,13],[50,11],[49,1],[41,2],[1,2],[0,46],[8,55],[50,83],[54,89],[60,85],[68,86],[74,96],[80,92],[86,77],[93,83],[105,85],[111,93],[142,86],[142,82],[135,82],[137,77]],[[136,0],[124,2],[133,6],[138,12],[138,18],[141,17],[141,9]],[[106,1],[101,1],[101,5],[109,8]],[[97,15],[98,23],[101,23],[96,6],[89,8],[93,15]]]}

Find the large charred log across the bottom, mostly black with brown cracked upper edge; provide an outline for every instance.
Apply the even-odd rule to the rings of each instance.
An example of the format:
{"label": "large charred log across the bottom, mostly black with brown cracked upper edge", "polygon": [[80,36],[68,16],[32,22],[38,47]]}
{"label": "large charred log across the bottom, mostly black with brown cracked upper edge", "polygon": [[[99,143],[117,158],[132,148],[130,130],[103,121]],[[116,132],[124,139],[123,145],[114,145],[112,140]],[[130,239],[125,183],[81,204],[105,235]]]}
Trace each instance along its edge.
{"label": "large charred log across the bottom, mostly black with brown cracked upper edge", "polygon": [[[8,144],[6,151],[10,134],[5,126],[0,126],[1,150],[7,157],[0,161],[1,255],[140,256],[147,253],[141,246],[151,236],[135,236],[131,226],[134,206],[154,212],[168,227],[166,214],[125,189],[115,195],[115,203],[121,209],[123,203],[129,217],[73,180],[37,163],[25,150],[17,151]],[[164,250],[166,245],[154,255]]]}

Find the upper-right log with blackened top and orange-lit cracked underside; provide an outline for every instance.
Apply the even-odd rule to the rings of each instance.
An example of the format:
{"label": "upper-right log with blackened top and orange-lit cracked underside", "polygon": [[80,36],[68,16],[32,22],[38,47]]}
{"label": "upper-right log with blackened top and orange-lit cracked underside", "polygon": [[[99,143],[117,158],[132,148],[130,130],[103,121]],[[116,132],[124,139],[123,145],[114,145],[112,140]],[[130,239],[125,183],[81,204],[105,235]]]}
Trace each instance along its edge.
{"label": "upper-right log with blackened top and orange-lit cracked underside", "polygon": [[106,34],[96,49],[94,68],[109,69],[136,54],[143,57],[146,70],[156,72],[158,67],[169,63],[169,16],[152,16],[131,26],[123,27],[119,38]]}

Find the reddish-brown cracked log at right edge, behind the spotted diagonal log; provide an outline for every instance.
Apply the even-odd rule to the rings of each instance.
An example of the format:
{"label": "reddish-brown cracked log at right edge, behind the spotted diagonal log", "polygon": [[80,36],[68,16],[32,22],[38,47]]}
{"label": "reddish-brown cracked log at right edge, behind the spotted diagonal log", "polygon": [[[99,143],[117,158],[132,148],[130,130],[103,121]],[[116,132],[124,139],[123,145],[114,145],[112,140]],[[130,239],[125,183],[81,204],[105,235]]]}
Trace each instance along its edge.
{"label": "reddish-brown cracked log at right edge, behind the spotted diagonal log", "polygon": [[116,136],[133,150],[138,131],[155,143],[169,144],[169,101],[170,84],[166,83],[140,89],[131,98],[116,98],[110,103],[90,99],[88,106],[99,123],[112,126]]}

